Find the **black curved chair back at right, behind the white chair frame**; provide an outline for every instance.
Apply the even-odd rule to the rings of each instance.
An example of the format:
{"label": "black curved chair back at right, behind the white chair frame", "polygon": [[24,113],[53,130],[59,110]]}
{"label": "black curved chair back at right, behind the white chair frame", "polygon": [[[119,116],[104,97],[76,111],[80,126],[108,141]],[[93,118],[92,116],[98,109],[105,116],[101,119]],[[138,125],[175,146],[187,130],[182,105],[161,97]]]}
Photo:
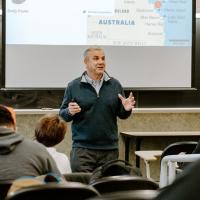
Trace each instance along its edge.
{"label": "black curved chair back at right, behind the white chair frame", "polygon": [[162,161],[164,156],[168,155],[176,155],[179,153],[191,154],[197,144],[198,142],[196,141],[181,141],[172,143],[163,150],[163,153],[160,156],[160,161]]}

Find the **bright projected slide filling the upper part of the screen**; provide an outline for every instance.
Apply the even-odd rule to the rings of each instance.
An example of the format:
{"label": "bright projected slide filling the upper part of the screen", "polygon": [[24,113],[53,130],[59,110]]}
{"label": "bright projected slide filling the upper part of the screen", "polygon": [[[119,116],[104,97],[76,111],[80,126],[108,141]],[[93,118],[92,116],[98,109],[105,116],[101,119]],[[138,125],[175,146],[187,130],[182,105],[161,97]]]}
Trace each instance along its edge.
{"label": "bright projected slide filling the upper part of the screen", "polygon": [[9,0],[7,44],[191,46],[188,0]]}

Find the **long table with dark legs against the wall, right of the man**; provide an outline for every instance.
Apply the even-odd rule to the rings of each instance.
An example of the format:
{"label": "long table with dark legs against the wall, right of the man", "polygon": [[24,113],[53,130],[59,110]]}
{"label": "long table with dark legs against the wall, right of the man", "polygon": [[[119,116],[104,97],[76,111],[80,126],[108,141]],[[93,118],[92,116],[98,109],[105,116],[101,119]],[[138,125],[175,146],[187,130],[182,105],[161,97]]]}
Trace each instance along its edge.
{"label": "long table with dark legs against the wall, right of the man", "polygon": [[[130,139],[135,140],[135,151],[140,151],[142,139],[146,137],[195,137],[200,138],[200,131],[159,131],[159,132],[120,132],[125,142],[125,160],[129,162]],[[140,158],[136,156],[136,167],[140,167]]]}

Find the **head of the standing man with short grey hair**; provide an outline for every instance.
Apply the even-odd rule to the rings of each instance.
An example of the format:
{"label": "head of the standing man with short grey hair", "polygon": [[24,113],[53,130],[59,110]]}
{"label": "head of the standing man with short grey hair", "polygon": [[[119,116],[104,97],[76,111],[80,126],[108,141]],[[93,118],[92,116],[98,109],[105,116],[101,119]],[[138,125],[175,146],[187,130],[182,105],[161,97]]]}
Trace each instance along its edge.
{"label": "head of the standing man with short grey hair", "polygon": [[101,48],[89,48],[84,52],[84,63],[90,78],[100,79],[105,71],[105,54]]}

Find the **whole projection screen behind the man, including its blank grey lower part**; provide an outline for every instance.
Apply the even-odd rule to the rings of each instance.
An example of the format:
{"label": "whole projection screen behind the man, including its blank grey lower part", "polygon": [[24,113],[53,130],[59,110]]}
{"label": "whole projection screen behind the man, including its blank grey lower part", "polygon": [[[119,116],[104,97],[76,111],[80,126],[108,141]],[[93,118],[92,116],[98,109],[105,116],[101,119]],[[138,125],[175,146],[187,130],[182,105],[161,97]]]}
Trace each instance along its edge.
{"label": "whole projection screen behind the man, including its blank grey lower part", "polygon": [[3,2],[5,88],[65,88],[95,45],[124,88],[191,88],[194,0]]}

